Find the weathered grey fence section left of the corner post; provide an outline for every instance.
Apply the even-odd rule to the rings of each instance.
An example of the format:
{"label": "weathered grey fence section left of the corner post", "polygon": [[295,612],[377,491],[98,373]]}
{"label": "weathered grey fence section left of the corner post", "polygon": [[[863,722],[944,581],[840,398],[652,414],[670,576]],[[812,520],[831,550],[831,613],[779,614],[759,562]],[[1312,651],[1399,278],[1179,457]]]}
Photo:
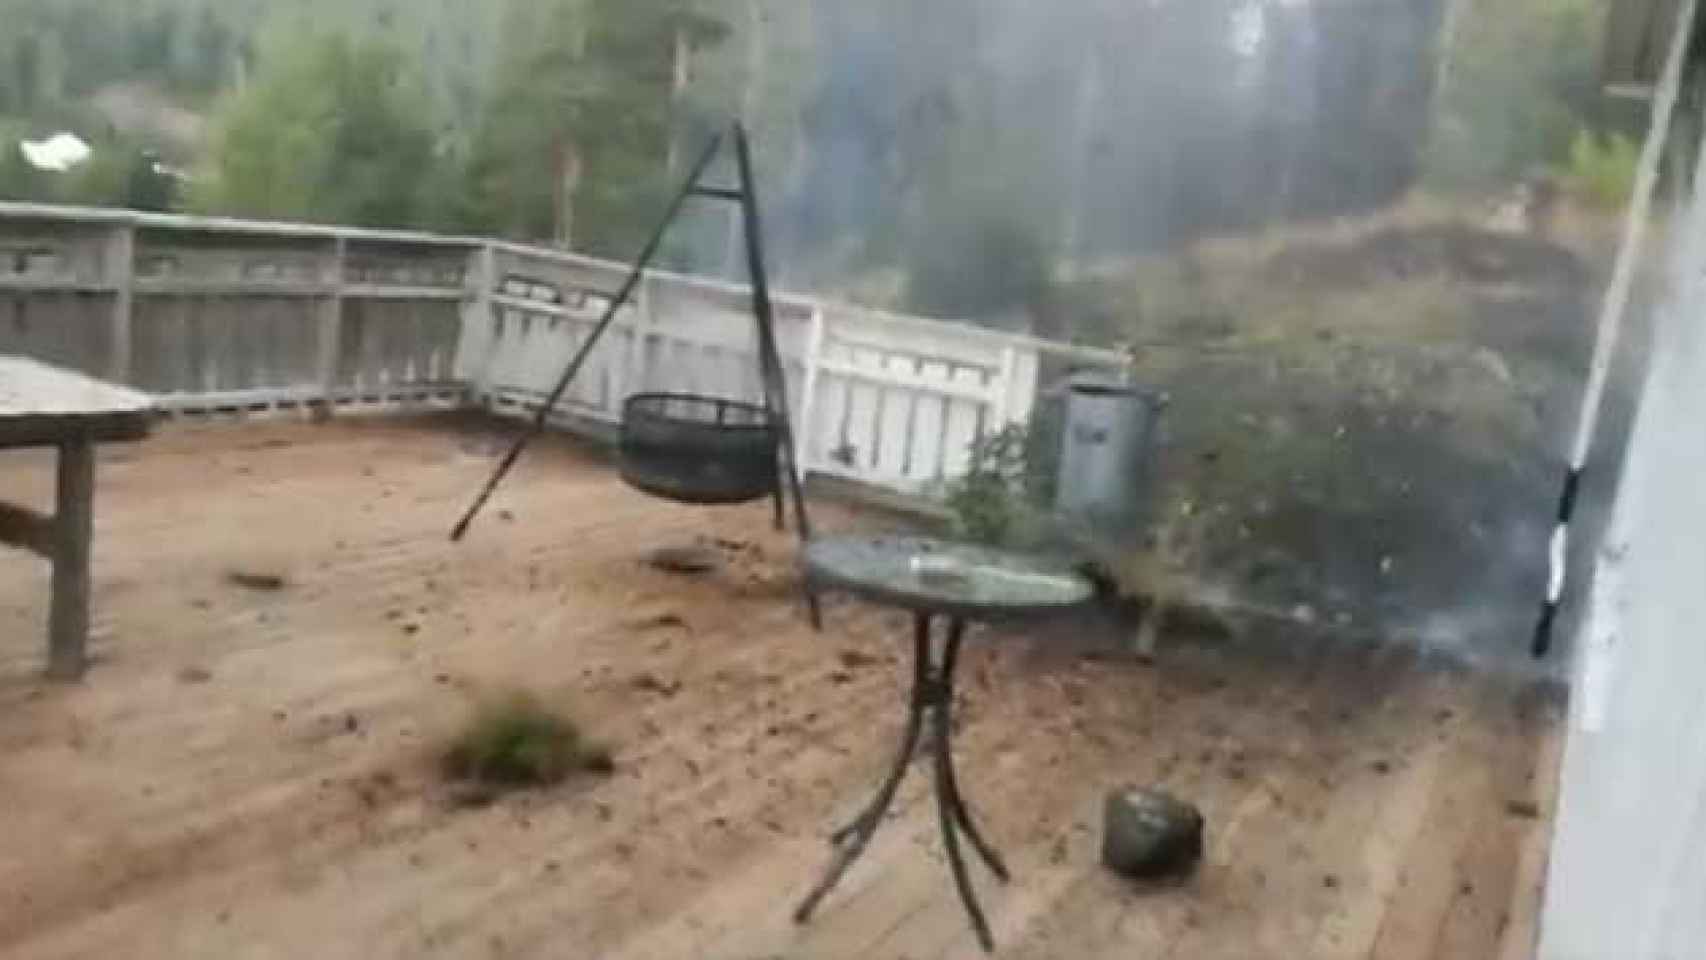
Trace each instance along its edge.
{"label": "weathered grey fence section left of the corner post", "polygon": [[0,351],[183,414],[461,402],[474,240],[0,205]]}

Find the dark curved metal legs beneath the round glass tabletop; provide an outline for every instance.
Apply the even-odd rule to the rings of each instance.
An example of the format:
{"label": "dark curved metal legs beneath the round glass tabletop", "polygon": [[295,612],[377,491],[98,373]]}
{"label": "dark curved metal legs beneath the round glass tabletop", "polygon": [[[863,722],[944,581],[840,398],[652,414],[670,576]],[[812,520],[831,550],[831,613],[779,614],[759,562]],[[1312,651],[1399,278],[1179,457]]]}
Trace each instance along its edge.
{"label": "dark curved metal legs beneath the round glass tabletop", "polygon": [[906,769],[913,760],[913,754],[918,750],[918,738],[928,716],[933,723],[931,754],[935,760],[937,813],[942,820],[942,844],[947,849],[949,868],[954,873],[954,887],[959,890],[960,902],[966,904],[966,912],[971,917],[972,929],[978,933],[978,943],[981,943],[984,950],[995,950],[995,938],[989,936],[989,924],[983,916],[983,907],[978,905],[978,895],[976,890],[972,890],[971,878],[966,873],[966,861],[960,858],[959,849],[959,834],[964,832],[966,837],[971,839],[972,847],[978,849],[978,854],[989,865],[989,870],[996,875],[996,878],[1001,882],[1008,880],[1007,865],[1001,863],[1001,856],[972,824],[971,812],[966,808],[966,801],[959,791],[959,781],[954,776],[954,667],[959,660],[959,648],[964,634],[966,622],[960,619],[950,619],[949,636],[942,650],[942,660],[937,663],[930,648],[930,614],[914,616],[913,696],[906,716],[906,732],[901,735],[901,752],[896,755],[887,779],[884,779],[870,805],[867,805],[865,810],[850,824],[836,829],[829,836],[829,842],[834,846],[829,868],[824,871],[822,880],[812,887],[812,892],[805,895],[798,909],[793,911],[795,922],[805,922],[810,919],[817,904],[841,880],[848,866],[851,866],[853,861],[865,851],[870,837],[882,824],[882,817],[887,813],[889,805],[894,803],[894,793],[899,789],[901,779],[906,778]]}

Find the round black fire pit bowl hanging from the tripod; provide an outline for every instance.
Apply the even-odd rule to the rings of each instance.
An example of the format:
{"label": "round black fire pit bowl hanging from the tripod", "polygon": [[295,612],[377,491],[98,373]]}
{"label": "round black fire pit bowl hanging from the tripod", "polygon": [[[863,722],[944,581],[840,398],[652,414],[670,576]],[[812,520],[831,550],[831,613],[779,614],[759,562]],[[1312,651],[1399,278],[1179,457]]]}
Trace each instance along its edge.
{"label": "round black fire pit bowl hanging from the tripod", "polygon": [[776,491],[778,431],[757,404],[635,394],[623,404],[623,481],[681,503],[747,503]]}

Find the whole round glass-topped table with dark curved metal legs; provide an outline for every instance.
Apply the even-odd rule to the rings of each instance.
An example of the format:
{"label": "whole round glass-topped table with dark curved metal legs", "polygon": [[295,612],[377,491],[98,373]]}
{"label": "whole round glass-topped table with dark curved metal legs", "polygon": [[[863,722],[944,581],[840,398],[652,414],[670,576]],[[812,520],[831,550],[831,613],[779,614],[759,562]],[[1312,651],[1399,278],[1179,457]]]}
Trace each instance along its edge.
{"label": "whole round glass-topped table with dark curved metal legs", "polygon": [[[826,537],[805,546],[807,588],[814,593],[843,590],[863,600],[913,612],[913,692],[908,703],[901,750],[889,776],[865,810],[829,836],[834,847],[822,880],[793,912],[810,919],[819,900],[858,859],[894,801],[928,721],[933,754],[937,812],[954,885],[971,916],[978,943],[995,948],[989,924],[978,905],[959,834],[966,834],[989,870],[1005,882],[1007,865],[978,832],[954,776],[952,708],[954,667],[969,621],[1013,621],[1061,614],[1092,595],[1090,581],[1065,563],[1039,556],[955,544],[928,537]],[[931,619],[947,619],[940,653],[931,643]]]}

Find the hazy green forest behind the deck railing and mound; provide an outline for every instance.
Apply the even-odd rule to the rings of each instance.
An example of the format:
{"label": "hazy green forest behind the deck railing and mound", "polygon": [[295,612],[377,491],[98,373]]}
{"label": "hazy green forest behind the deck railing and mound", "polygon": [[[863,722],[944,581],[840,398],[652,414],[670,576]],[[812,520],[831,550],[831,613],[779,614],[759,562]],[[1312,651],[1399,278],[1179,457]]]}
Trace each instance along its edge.
{"label": "hazy green forest behind the deck railing and mound", "polygon": [[[623,257],[684,153],[742,118],[790,283],[906,264],[896,305],[986,322],[1047,312],[1063,266],[1418,184],[1486,194],[1559,171],[1616,193],[1639,119],[1599,92],[1597,0],[0,0],[0,17],[3,198]],[[55,130],[94,159],[24,164],[14,143]],[[154,157],[188,181],[162,193]],[[732,266],[727,218],[694,218],[669,257]]]}

